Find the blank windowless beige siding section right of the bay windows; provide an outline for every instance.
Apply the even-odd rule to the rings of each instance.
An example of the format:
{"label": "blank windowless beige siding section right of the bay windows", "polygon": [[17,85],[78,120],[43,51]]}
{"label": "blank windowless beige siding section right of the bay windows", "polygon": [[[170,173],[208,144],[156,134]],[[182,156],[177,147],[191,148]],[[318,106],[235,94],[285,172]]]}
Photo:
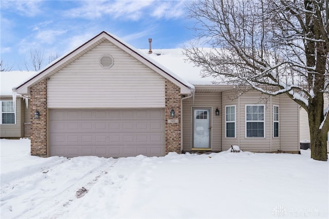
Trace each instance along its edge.
{"label": "blank windowless beige siding section right of the bay windows", "polygon": [[299,151],[299,106],[286,95],[280,96],[280,106],[281,150]]}

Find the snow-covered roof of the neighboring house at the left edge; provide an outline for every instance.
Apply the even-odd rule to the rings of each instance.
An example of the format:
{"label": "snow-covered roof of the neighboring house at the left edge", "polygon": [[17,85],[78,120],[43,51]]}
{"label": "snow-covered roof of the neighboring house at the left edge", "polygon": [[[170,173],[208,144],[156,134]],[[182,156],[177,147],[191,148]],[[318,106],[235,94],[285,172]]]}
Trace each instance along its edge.
{"label": "snow-covered roof of the neighboring house at the left edge", "polygon": [[0,96],[11,96],[13,87],[17,87],[35,74],[35,71],[0,71]]}

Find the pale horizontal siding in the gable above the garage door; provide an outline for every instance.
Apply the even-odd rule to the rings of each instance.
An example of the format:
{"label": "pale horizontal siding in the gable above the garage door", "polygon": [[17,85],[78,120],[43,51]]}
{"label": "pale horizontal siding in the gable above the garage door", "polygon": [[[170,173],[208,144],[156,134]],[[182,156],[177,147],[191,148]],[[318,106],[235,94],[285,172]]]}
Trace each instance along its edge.
{"label": "pale horizontal siding in the gable above the garage door", "polygon": [[[99,60],[111,54],[114,65]],[[165,107],[165,80],[104,41],[48,80],[49,108]]]}

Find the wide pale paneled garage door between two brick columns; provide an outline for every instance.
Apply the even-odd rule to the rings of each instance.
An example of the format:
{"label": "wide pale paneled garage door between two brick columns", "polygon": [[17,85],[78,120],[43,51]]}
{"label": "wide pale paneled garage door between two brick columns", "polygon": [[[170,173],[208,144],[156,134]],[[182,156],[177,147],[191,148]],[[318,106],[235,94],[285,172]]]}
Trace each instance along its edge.
{"label": "wide pale paneled garage door between two brick columns", "polygon": [[50,109],[50,156],[164,156],[164,112]]}

